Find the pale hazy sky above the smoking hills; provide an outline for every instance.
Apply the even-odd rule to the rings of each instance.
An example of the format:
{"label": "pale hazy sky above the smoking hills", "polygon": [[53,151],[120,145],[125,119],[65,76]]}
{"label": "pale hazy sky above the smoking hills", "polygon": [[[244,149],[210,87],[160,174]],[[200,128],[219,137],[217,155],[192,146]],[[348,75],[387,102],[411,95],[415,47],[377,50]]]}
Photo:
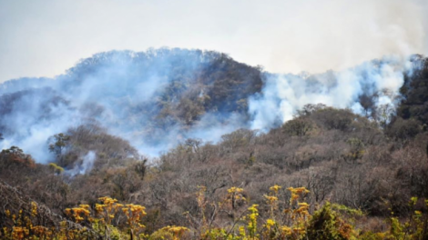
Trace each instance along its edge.
{"label": "pale hazy sky above the smoking hills", "polygon": [[0,83],[150,47],[215,50],[275,73],[428,53],[427,0],[0,0]]}

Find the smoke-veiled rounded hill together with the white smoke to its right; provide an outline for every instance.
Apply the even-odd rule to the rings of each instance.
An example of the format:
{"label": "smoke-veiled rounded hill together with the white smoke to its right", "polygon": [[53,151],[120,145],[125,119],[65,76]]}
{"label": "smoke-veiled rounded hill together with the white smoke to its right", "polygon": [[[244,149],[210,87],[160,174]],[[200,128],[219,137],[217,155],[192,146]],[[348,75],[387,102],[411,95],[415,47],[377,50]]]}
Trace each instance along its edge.
{"label": "smoke-veiled rounded hill together with the white smoke to its right", "polygon": [[[422,66],[420,56],[391,56],[341,72],[278,75],[218,52],[100,53],[66,75],[0,85],[0,144],[19,145],[46,162],[53,157],[49,137],[90,124],[129,140],[142,155],[156,156],[187,138],[217,142],[239,128],[267,131],[308,104],[389,121],[404,77]],[[379,109],[385,115],[376,115]]]}

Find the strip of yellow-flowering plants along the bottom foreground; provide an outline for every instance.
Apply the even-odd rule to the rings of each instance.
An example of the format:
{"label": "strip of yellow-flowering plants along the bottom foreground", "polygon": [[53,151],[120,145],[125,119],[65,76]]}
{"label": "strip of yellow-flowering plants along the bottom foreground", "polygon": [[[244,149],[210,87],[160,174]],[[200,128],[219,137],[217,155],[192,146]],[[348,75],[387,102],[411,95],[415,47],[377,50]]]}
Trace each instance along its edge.
{"label": "strip of yellow-flowering plants along the bottom foreground", "polygon": [[[345,220],[343,215],[340,214],[341,212],[346,212],[347,215],[350,215],[352,212],[347,207],[327,203],[323,206],[322,209],[324,210],[322,211],[328,211],[326,213],[333,217],[326,223],[322,223],[328,224],[327,228],[323,227],[322,229],[328,229],[330,232],[326,232],[326,234],[316,232],[314,236],[314,229],[318,228],[314,228],[313,223],[318,223],[317,219],[319,218],[317,217],[320,216],[317,215],[320,215],[320,211],[311,215],[310,205],[303,202],[304,197],[309,191],[304,187],[288,188],[291,194],[290,205],[286,206],[287,209],[284,211],[278,211],[280,206],[282,206],[281,204],[287,205],[287,203],[279,200],[280,189],[279,185],[273,185],[270,187],[270,193],[265,195],[266,202],[270,205],[271,211],[270,215],[265,215],[263,212],[262,215],[266,217],[264,218],[263,225],[260,224],[262,220],[260,221],[259,219],[259,205],[251,205],[248,207],[248,211],[237,207],[227,212],[227,214],[240,214],[239,218],[234,218],[233,225],[216,227],[213,224],[211,227],[211,223],[209,223],[209,227],[201,228],[199,226],[199,228],[193,229],[192,234],[194,235],[192,237],[225,240],[318,239],[318,235],[322,234],[327,235],[323,239],[332,239],[332,235],[340,236],[341,239],[403,239],[403,235],[409,235],[408,239],[424,239],[422,234],[426,226],[426,215],[423,211],[413,208],[418,202],[421,202],[416,197],[413,197],[409,204],[413,213],[411,220],[401,222],[397,217],[392,217],[390,222],[388,222],[389,229],[381,233],[361,233],[359,230],[354,229],[355,226],[346,222],[349,218]],[[205,191],[205,189],[203,190]],[[228,202],[230,195],[240,194],[243,191],[239,187],[229,188],[224,201]],[[201,192],[201,194],[204,194],[204,192]],[[165,226],[149,235],[144,232],[145,225],[142,224],[143,217],[147,215],[146,207],[134,204],[122,205],[117,203],[116,199],[110,197],[101,197],[99,200],[102,203],[95,205],[94,209],[96,212],[91,213],[89,205],[78,205],[77,207],[66,208],[65,210],[66,215],[70,216],[76,223],[85,221],[85,225],[91,231],[88,231],[86,227],[72,229],[66,221],[60,222],[59,226],[56,225],[56,227],[52,228],[43,225],[33,226],[33,223],[36,223],[35,220],[41,214],[37,213],[38,207],[36,203],[31,203],[30,207],[26,207],[24,212],[21,209],[16,215],[13,215],[9,210],[5,210],[5,216],[9,218],[9,223],[12,223],[12,225],[0,229],[0,239],[93,239],[94,235],[90,235],[90,233],[97,233],[97,236],[102,239],[178,240],[187,239],[191,236],[186,235],[190,232],[189,228],[177,225]],[[204,204],[208,202],[205,199],[203,201]],[[425,201],[425,205],[428,207],[428,200]],[[219,204],[214,206],[219,206]],[[127,223],[124,221],[125,216],[127,217]],[[409,229],[412,229],[412,231],[409,231]],[[200,234],[199,236],[197,235],[198,233]]]}

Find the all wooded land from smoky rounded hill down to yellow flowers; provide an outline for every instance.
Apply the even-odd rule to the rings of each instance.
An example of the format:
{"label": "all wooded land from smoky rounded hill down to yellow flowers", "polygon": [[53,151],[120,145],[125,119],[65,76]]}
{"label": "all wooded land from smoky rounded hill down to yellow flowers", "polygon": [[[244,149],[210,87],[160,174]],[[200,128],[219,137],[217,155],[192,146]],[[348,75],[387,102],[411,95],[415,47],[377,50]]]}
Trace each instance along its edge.
{"label": "all wooded land from smoky rounded hill down to yellow flowers", "polygon": [[[0,237],[428,239],[428,61],[410,61],[396,95],[362,77],[361,111],[306,104],[264,129],[250,105],[272,75],[216,52],[110,52],[6,82],[0,143],[22,145],[0,153]],[[336,76],[294,77],[304,94]]]}

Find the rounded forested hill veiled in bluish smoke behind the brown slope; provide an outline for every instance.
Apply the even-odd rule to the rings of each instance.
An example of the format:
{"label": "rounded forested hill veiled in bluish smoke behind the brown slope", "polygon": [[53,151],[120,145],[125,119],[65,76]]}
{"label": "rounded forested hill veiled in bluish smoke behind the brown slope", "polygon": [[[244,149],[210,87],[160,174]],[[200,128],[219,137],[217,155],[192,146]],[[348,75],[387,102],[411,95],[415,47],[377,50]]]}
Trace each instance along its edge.
{"label": "rounded forested hill veiled in bluish smoke behind the brown slope", "polygon": [[[245,126],[247,99],[260,92],[261,77],[260,68],[217,52],[97,54],[55,79],[0,85],[0,133],[14,145],[46,149],[49,136],[96,122],[133,140],[143,154],[158,155],[182,135],[218,140]],[[48,158],[45,152],[32,153],[42,158],[38,161]]]}

